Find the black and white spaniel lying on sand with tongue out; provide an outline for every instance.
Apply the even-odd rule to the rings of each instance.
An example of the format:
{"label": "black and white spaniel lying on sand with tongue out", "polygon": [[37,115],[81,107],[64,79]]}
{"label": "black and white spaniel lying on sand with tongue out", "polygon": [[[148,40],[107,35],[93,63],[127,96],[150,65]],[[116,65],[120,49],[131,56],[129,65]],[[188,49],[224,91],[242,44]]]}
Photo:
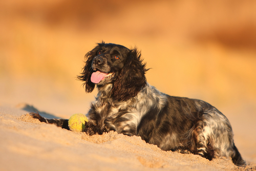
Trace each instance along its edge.
{"label": "black and white spaniel lying on sand with tongue out", "polygon": [[[169,96],[150,86],[137,49],[101,42],[85,57],[78,78],[87,93],[98,89],[87,114],[88,135],[116,131],[140,136],[164,151],[189,151],[209,160],[231,157],[234,164],[246,165],[234,145],[228,119],[205,101]],[[67,119],[32,116],[69,129]]]}

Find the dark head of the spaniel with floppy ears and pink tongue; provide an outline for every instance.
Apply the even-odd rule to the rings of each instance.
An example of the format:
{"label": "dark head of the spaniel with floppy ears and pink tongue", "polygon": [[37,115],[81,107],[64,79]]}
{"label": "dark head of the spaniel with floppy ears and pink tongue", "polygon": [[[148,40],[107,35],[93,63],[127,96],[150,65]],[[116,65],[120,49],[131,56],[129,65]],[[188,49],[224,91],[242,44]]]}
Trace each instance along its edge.
{"label": "dark head of the spaniel with floppy ears and pink tongue", "polygon": [[78,79],[84,81],[88,93],[94,90],[95,84],[98,87],[112,84],[112,97],[123,101],[136,96],[146,86],[147,69],[136,48],[101,42],[85,57],[86,65]]}

